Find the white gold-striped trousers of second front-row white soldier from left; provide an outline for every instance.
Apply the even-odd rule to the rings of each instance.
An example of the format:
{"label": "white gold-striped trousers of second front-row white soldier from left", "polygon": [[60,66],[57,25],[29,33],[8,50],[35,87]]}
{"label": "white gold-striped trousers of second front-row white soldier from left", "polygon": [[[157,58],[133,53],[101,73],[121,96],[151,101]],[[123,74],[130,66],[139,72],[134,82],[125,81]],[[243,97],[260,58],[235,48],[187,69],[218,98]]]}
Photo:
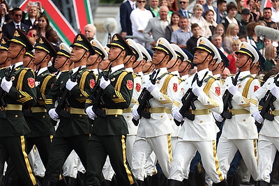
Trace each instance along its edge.
{"label": "white gold-striped trousers of second front-row white soldier from left", "polygon": [[213,183],[220,183],[224,179],[216,157],[216,141],[184,140],[179,140],[176,144],[169,179],[182,182],[184,173],[188,176],[189,164],[195,157],[197,150],[202,157],[202,165],[206,174],[213,180]]}

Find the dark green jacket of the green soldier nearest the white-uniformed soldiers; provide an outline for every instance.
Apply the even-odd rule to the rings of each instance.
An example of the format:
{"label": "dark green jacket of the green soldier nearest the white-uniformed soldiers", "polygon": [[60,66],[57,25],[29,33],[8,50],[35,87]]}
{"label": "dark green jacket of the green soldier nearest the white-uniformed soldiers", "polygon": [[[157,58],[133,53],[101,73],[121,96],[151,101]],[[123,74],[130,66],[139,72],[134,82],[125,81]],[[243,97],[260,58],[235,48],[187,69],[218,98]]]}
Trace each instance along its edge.
{"label": "dark green jacket of the green soldier nearest the white-uniformed soldiers", "polygon": [[[100,73],[97,82],[98,85],[100,84],[100,79],[101,77],[103,77],[104,73],[106,72]],[[125,75],[125,77],[122,77],[123,75],[121,74]],[[104,104],[100,104],[100,108],[128,108],[133,95],[134,79],[132,73],[126,72],[125,68],[121,68],[109,75],[109,79],[111,84],[107,86],[105,90],[103,90]],[[92,97],[95,95],[95,91],[97,91],[97,89],[98,86],[94,88],[93,93],[90,95],[89,99],[86,100],[85,107],[89,107],[93,104]],[[93,128],[91,130],[91,134],[96,134],[98,136],[128,134],[126,120],[125,118],[123,118],[123,115],[108,115],[105,118],[97,116],[93,121]]]}

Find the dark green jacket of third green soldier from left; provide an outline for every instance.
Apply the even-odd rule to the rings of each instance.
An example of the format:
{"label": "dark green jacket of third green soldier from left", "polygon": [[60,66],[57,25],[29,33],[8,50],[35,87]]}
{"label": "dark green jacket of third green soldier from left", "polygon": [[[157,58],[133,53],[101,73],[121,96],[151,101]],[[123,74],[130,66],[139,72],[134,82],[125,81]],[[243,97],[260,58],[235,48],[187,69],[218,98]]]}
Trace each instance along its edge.
{"label": "dark green jacket of third green soldier from left", "polygon": [[[54,83],[54,86],[52,86],[50,93],[46,95],[47,111],[54,108],[55,101],[64,91],[64,88],[66,88],[66,82],[70,79],[71,72],[72,71],[60,75]],[[68,97],[70,105],[68,105],[68,107],[84,109],[86,98],[88,98],[93,90],[95,81],[96,77],[93,75],[93,72],[86,70],[86,68],[82,68],[77,75],[77,85],[70,91],[70,96]],[[89,134],[90,126],[87,115],[70,114],[70,118],[60,118],[59,127],[56,129],[55,135],[73,137],[80,134]]]}

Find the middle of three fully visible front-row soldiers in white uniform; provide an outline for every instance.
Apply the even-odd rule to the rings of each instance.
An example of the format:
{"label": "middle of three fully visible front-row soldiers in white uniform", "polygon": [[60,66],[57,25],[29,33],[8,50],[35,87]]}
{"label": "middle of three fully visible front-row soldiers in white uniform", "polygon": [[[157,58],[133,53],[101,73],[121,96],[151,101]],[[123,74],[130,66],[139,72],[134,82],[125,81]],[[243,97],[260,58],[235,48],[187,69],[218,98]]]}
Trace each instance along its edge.
{"label": "middle of three fully visible front-row soldiers in white uniform", "polygon": [[[223,110],[220,82],[211,78],[212,73],[208,69],[209,63],[217,52],[216,47],[206,38],[197,40],[193,60],[193,63],[197,64],[197,76],[199,81],[205,77],[206,73],[208,73],[209,77],[205,77],[201,87],[197,85],[197,81],[193,82],[196,75],[186,79],[185,86],[176,99],[177,103],[173,105],[172,115],[174,118],[177,121],[184,121],[179,133],[179,141],[174,150],[174,161],[172,162],[168,180],[169,186],[181,185],[184,173],[188,176],[189,164],[197,150],[202,157],[204,169],[213,180],[213,183],[227,185],[218,165],[216,156],[216,133],[218,128],[211,114],[211,111],[221,113]],[[195,114],[194,121],[184,118],[179,112],[182,107],[181,98],[189,88],[193,88],[193,93],[197,96],[197,100],[194,102],[196,109],[189,110],[190,113]]]}

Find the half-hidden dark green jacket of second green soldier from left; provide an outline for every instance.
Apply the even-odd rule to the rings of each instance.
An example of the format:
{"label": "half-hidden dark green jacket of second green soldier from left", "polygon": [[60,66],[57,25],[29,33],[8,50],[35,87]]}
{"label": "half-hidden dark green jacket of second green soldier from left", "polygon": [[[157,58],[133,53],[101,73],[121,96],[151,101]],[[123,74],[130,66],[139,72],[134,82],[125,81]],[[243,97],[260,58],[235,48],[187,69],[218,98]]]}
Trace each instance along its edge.
{"label": "half-hidden dark green jacket of second green soldier from left", "polygon": [[[37,93],[37,103],[34,107],[43,107],[45,108],[45,95],[50,92],[50,88],[54,85],[56,78],[54,75],[50,74],[49,70],[41,73],[36,77],[36,86]],[[31,109],[31,107],[27,108]],[[27,137],[44,137],[54,134],[54,126],[50,123],[50,116],[47,112],[38,112],[32,113],[31,116],[24,116],[25,121],[31,130],[31,133],[27,134]]]}

